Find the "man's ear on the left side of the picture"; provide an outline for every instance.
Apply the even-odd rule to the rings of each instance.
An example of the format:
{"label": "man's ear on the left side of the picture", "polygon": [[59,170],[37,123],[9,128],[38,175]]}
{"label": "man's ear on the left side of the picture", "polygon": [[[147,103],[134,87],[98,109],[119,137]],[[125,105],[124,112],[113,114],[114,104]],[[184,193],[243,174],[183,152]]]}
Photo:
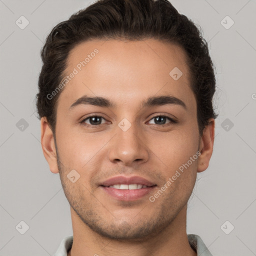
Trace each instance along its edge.
{"label": "man's ear on the left side of the picture", "polygon": [[41,118],[41,146],[43,155],[49,164],[50,171],[57,173],[58,166],[54,137],[45,116]]}

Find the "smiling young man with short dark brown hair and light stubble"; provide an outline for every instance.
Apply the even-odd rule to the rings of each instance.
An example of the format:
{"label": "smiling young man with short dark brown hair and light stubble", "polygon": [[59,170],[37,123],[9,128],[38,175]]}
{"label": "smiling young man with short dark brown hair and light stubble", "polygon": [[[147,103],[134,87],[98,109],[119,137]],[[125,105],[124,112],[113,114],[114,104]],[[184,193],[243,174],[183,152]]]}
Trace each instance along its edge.
{"label": "smiling young man with short dark brown hair and light stubble", "polygon": [[54,255],[211,255],[186,234],[217,116],[193,22],[167,0],[99,0],[56,25],[41,56],[41,145],[73,228]]}

